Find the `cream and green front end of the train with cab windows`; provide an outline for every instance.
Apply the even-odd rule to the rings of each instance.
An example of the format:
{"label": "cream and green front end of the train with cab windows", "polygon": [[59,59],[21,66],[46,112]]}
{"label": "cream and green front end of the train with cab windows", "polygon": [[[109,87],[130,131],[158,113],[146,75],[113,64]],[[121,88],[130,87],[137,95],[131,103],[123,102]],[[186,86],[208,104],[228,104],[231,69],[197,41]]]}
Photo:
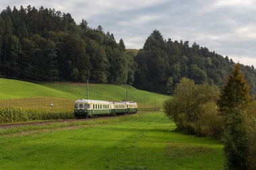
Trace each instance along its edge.
{"label": "cream and green front end of the train with cab windows", "polygon": [[78,99],[75,101],[75,118],[87,118],[90,115],[90,103],[87,99]]}

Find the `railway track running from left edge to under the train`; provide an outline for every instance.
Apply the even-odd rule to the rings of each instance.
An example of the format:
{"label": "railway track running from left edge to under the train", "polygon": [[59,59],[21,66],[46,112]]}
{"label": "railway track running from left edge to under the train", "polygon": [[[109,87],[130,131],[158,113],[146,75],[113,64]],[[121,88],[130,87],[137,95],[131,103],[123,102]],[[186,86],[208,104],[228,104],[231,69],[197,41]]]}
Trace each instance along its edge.
{"label": "railway track running from left edge to under the train", "polygon": [[13,123],[13,124],[0,124],[0,128],[17,128],[19,126],[40,126],[45,124],[53,124],[53,123],[67,123],[67,122],[75,122],[75,121],[90,121],[93,119],[109,119],[109,118],[116,118],[125,115],[115,115],[115,116],[105,116],[105,117],[94,117],[94,118],[86,118],[86,119],[65,119],[65,120],[45,120],[40,122],[20,122],[20,123]]}

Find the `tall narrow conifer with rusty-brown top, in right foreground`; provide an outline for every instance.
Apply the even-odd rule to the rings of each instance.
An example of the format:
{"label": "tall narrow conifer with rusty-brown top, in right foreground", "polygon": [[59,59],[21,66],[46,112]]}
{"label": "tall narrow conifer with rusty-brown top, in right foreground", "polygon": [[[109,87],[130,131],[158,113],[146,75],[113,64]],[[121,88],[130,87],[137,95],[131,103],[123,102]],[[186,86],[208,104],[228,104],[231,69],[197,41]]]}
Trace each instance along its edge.
{"label": "tall narrow conifer with rusty-brown top, in right foreground", "polygon": [[250,102],[249,85],[241,74],[240,64],[234,66],[217,104],[225,118],[224,154],[226,169],[249,169],[247,166],[248,136],[245,126],[246,108]]}

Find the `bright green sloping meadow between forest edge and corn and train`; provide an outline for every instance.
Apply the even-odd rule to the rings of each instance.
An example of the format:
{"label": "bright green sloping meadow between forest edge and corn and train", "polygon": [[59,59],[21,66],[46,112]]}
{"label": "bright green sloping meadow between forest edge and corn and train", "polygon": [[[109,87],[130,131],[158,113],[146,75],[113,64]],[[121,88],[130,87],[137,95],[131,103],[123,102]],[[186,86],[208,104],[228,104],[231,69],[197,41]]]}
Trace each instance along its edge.
{"label": "bright green sloping meadow between forest edge and corn and train", "polygon": [[[28,83],[25,81],[0,78],[0,87],[0,105],[2,106],[7,101],[10,101],[10,99],[11,103],[23,103],[20,101],[24,101],[24,98],[32,98],[29,100],[31,104],[33,100],[38,103],[40,99],[53,97],[54,99],[51,102],[55,102],[58,99],[68,99],[71,101],[73,107],[73,101],[81,98],[86,99],[87,96],[86,83]],[[130,85],[117,86],[90,83],[88,91],[89,99],[121,101],[122,99],[128,98],[129,100],[136,101],[140,108],[144,107],[144,103],[146,108],[154,107],[155,102],[157,107],[162,108],[162,101],[168,97],[167,95],[141,91]],[[13,99],[15,102],[13,102]]]}

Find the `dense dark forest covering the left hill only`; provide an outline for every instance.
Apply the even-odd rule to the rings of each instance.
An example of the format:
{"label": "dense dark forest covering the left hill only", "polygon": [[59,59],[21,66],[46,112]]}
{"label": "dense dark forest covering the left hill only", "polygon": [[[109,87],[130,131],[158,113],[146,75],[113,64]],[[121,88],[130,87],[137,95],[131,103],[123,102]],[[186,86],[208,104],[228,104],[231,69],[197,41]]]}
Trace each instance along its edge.
{"label": "dense dark forest covering the left hill only", "polygon": [[121,39],[103,28],[77,25],[70,13],[30,5],[0,14],[0,72],[36,81],[131,84],[136,64]]}

